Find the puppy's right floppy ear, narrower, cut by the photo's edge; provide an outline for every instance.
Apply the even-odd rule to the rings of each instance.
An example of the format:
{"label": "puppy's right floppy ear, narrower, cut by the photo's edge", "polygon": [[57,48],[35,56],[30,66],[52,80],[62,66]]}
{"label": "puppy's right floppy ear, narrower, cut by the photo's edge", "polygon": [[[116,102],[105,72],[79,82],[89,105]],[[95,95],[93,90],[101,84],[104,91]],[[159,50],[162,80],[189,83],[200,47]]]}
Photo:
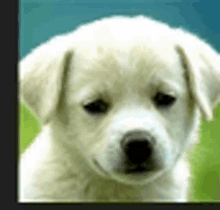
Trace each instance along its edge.
{"label": "puppy's right floppy ear, narrower, cut by the photo's edge", "polygon": [[182,30],[176,32],[176,50],[185,69],[191,95],[209,121],[220,101],[220,54],[196,36]]}

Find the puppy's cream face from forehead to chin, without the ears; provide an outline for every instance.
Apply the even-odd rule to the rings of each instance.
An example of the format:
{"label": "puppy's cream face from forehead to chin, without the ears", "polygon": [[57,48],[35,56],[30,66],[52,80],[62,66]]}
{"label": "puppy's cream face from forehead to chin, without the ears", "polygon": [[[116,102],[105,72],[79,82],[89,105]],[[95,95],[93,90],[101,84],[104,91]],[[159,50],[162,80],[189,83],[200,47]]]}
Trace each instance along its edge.
{"label": "puppy's cream face from forehead to chin, without the ears", "polygon": [[69,133],[100,175],[146,184],[188,147],[194,101],[168,46],[76,50],[66,88]]}

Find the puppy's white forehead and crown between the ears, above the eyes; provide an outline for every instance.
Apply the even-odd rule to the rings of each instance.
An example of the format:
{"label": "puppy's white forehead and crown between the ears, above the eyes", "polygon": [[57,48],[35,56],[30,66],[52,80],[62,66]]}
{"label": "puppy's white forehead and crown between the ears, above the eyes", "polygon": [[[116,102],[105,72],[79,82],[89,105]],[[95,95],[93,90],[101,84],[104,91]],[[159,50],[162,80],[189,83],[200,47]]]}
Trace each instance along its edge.
{"label": "puppy's white forehead and crown between the ears, above the eyes", "polygon": [[104,19],[79,28],[74,39],[74,81],[78,84],[103,81],[115,87],[141,87],[153,74],[181,80],[175,71],[180,69],[175,32],[166,24],[141,16]]}

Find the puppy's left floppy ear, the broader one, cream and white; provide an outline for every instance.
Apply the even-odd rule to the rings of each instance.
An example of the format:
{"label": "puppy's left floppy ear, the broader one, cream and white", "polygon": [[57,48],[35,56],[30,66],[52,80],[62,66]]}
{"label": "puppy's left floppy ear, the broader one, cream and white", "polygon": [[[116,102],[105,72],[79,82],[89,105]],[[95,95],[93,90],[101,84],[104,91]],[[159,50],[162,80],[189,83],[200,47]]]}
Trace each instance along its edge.
{"label": "puppy's left floppy ear, the broader one, cream and white", "polygon": [[34,49],[18,64],[20,97],[45,124],[58,105],[73,50],[65,36]]}

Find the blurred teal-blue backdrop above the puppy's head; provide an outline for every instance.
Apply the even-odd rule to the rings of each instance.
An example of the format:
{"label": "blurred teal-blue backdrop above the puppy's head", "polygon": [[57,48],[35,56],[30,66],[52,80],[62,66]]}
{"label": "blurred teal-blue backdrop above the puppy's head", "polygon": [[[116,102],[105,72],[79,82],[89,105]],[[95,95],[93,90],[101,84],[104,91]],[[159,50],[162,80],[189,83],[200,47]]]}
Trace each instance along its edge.
{"label": "blurred teal-blue backdrop above the puppy's head", "polygon": [[21,0],[20,56],[79,24],[104,16],[138,14],[182,26],[220,51],[219,8],[218,0]]}

